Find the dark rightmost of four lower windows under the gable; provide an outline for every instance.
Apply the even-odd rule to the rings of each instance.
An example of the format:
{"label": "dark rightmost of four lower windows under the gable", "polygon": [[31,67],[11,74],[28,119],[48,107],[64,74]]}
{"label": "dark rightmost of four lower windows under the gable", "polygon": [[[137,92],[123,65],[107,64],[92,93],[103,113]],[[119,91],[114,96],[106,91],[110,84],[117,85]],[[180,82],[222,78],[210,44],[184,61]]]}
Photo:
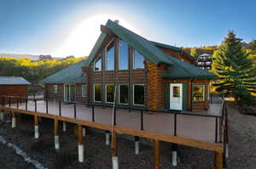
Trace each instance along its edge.
{"label": "dark rightmost of four lower windows under the gable", "polygon": [[144,85],[135,84],[133,85],[133,104],[143,105],[144,104]]}

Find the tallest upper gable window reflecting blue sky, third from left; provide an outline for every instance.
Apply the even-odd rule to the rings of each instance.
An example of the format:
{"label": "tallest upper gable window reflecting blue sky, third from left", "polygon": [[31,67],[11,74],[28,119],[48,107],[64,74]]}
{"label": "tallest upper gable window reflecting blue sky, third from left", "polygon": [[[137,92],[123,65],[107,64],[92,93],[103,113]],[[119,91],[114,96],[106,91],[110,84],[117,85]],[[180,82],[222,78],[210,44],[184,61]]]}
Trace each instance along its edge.
{"label": "tallest upper gable window reflecting blue sky, third from left", "polygon": [[129,45],[119,40],[119,70],[128,70],[129,65]]}

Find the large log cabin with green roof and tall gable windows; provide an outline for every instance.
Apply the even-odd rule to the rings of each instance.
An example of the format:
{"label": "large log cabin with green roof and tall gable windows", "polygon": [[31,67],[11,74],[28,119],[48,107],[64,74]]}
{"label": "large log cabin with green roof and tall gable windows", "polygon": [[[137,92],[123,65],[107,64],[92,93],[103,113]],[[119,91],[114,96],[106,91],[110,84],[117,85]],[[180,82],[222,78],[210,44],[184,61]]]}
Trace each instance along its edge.
{"label": "large log cabin with green roof and tall gable windows", "polygon": [[209,108],[209,83],[216,76],[195,66],[182,48],[148,41],[112,20],[101,31],[87,60],[42,81],[46,99],[115,101],[151,110]]}

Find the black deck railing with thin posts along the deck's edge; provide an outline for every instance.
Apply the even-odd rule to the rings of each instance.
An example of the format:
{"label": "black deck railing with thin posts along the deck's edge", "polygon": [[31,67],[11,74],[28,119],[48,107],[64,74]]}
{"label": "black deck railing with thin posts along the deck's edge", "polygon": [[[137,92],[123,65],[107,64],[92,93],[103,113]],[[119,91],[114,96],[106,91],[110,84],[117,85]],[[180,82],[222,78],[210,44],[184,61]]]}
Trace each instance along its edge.
{"label": "black deck railing with thin posts along the deck's edge", "polygon": [[[16,108],[19,109],[20,103],[25,103],[25,109],[27,110],[27,102],[33,101],[34,102],[34,111],[38,112],[38,101],[44,101],[45,102],[45,113],[49,114],[49,101],[55,101],[53,99],[28,99],[28,98],[22,98],[22,97],[15,97],[15,96],[1,96],[2,98],[2,104],[3,106],[7,105],[11,107],[12,104],[16,104]],[[15,102],[14,102],[15,100]],[[6,102],[7,101],[7,102]],[[88,104],[88,103],[82,103],[82,102],[62,102],[58,101],[58,107],[59,107],[59,115],[61,115],[61,104],[73,104],[73,118],[77,119],[77,104],[84,104],[85,106],[88,106],[91,108],[91,121],[95,122],[95,107],[104,107],[104,108],[113,108],[113,105],[110,104]],[[140,130],[144,130],[144,120],[143,116],[146,112],[157,112],[157,113],[168,113],[173,115],[173,136],[177,136],[177,115],[195,115],[195,116],[202,116],[202,117],[208,117],[208,118],[215,118],[215,143],[227,143],[228,142],[228,136],[227,136],[227,113],[226,113],[226,107],[224,100],[222,101],[222,104],[220,106],[219,115],[204,115],[204,114],[196,114],[196,113],[188,113],[183,112],[181,110],[149,110],[149,109],[143,109],[143,108],[131,108],[131,107],[124,107],[124,106],[116,106],[113,110],[113,125],[116,125],[116,112],[119,109],[125,109],[125,110],[136,110],[140,112]],[[224,133],[224,134],[223,134]]]}

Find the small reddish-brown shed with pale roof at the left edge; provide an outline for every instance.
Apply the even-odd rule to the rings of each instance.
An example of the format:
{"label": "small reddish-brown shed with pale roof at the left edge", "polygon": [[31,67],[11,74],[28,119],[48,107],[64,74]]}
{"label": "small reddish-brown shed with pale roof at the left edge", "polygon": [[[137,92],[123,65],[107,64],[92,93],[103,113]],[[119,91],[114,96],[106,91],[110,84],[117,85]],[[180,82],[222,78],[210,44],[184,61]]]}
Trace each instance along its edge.
{"label": "small reddish-brown shed with pale roof at the left edge", "polygon": [[[23,77],[0,76],[0,96],[6,95],[27,98],[27,87],[30,84]],[[3,104],[3,101],[8,102],[9,100],[3,100],[1,97],[0,104]],[[15,103],[16,100],[11,99],[10,102]]]}

